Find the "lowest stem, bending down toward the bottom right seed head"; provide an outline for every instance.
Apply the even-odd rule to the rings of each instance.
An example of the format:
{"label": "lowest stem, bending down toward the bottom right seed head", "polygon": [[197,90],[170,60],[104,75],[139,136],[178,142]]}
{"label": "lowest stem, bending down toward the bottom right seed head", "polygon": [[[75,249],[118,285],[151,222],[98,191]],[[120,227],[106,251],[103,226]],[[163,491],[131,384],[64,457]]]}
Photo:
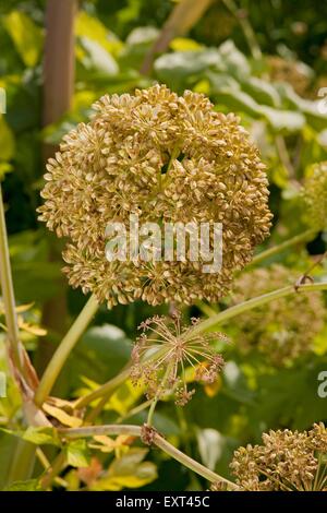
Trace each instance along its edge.
{"label": "lowest stem, bending down toward the bottom right seed head", "polygon": [[[75,439],[75,438],[87,438],[87,437],[95,437],[99,434],[130,434],[132,437],[141,437],[142,428],[140,426],[93,426],[87,428],[73,428],[73,429],[62,429],[61,433],[64,434],[65,438]],[[179,449],[174,448],[165,440],[160,434],[156,433],[154,436],[154,444],[157,448],[165,451],[171,457],[180,462],[185,467],[190,468],[191,470],[195,472],[199,476],[204,477],[210,482],[225,482],[230,489],[238,490],[238,486],[226,479],[225,477],[219,476],[218,474],[209,470],[201,463],[196,462],[192,457],[187,456],[183,452],[179,451]]]}

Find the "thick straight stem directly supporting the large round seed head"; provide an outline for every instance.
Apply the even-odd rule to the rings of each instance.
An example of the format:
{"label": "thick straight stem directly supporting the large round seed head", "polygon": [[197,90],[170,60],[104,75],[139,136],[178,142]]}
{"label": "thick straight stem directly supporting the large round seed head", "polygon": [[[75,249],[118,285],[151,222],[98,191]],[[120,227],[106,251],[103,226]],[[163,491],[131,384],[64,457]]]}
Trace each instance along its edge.
{"label": "thick straight stem directly supporting the large round seed head", "polygon": [[70,353],[78,342],[81,335],[84,333],[88,326],[92,318],[98,309],[98,301],[95,296],[92,296],[75,322],[63,337],[61,344],[52,356],[48,367],[45,370],[45,373],[39,382],[38,389],[35,393],[35,404],[41,406],[43,403],[48,397],[51,389],[64,366],[65,360],[68,359]]}

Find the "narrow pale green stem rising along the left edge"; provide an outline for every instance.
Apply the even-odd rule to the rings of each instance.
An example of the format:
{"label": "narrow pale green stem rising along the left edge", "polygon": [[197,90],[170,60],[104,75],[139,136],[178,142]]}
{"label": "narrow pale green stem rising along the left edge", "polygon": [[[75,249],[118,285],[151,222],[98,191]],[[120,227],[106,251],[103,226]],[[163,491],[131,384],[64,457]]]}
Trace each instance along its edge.
{"label": "narrow pale green stem rising along the left edge", "polygon": [[24,367],[20,351],[20,332],[15,310],[15,298],[12,283],[12,274],[9,258],[8,236],[5,229],[2,190],[0,184],[0,281],[4,303],[7,334],[10,343],[14,365],[23,373]]}

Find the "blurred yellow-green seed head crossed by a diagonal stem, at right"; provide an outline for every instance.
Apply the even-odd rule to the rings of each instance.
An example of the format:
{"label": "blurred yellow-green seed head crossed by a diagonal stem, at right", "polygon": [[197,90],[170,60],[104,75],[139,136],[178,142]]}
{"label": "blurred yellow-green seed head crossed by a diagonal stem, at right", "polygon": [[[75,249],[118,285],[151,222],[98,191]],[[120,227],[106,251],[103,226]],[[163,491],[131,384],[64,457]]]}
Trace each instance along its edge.
{"label": "blurred yellow-green seed head crossed by a diagonal stem, at right", "polygon": [[[256,296],[296,283],[299,274],[271,265],[245,273],[235,281],[233,300]],[[320,293],[295,294],[292,301],[280,298],[238,317],[238,347],[257,349],[267,360],[281,367],[312,350],[313,339],[324,326],[325,307]]]}

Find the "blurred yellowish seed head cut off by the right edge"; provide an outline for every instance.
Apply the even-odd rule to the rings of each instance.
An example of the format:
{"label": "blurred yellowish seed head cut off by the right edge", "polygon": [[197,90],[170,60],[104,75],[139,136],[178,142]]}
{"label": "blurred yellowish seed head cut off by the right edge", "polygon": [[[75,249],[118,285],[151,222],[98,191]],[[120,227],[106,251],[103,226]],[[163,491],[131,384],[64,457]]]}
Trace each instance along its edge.
{"label": "blurred yellowish seed head cut off by the right edge", "polygon": [[316,164],[302,188],[306,220],[312,228],[327,229],[327,162]]}

